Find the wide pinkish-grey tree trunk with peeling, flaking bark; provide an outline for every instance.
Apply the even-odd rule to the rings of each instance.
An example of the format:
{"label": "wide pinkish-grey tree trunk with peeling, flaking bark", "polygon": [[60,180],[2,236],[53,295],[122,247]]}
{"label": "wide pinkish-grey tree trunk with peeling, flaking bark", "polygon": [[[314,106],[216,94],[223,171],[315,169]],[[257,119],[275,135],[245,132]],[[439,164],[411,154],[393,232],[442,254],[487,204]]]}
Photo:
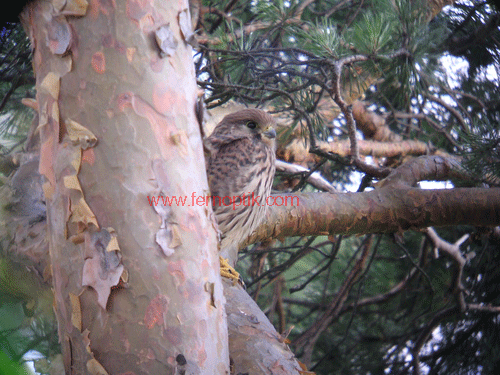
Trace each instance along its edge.
{"label": "wide pinkish-grey tree trunk with peeling, flaking bark", "polygon": [[22,17],[66,373],[229,373],[211,211],[149,201],[208,192],[187,1]]}

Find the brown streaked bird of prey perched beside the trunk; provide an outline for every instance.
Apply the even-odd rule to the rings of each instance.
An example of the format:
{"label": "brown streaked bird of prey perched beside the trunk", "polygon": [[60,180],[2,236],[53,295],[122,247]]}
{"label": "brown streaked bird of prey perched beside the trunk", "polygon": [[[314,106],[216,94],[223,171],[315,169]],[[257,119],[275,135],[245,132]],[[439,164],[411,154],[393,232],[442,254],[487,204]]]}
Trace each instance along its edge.
{"label": "brown streaked bird of prey perched beside the trunk", "polygon": [[234,266],[239,243],[265,216],[276,170],[275,124],[262,110],[243,109],[224,117],[206,140],[208,184],[221,232],[221,274],[226,277],[236,271],[228,270],[222,257]]}

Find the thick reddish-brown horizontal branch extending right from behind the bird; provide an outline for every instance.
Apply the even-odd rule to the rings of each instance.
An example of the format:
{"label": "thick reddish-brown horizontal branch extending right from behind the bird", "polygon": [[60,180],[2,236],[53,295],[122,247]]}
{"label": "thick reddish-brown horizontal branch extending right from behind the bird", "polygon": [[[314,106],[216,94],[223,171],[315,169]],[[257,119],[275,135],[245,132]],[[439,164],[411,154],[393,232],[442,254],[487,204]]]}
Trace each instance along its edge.
{"label": "thick reddish-brown horizontal branch extending right from behind the bird", "polygon": [[[267,220],[242,245],[268,238],[397,232],[429,226],[500,224],[499,188],[274,195]],[[280,206],[281,204],[281,206]]]}

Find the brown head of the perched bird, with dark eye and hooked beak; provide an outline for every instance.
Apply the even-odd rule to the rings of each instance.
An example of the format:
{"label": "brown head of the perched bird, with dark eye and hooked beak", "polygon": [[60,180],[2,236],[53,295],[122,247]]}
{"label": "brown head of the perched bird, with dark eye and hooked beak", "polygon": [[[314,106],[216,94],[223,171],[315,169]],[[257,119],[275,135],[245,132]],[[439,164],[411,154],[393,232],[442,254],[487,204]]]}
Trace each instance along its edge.
{"label": "brown head of the perched bird, with dark eye and hooked beak", "polygon": [[224,117],[215,127],[210,138],[220,143],[229,143],[237,139],[258,139],[274,149],[276,121],[269,113],[260,109],[247,108]]}

